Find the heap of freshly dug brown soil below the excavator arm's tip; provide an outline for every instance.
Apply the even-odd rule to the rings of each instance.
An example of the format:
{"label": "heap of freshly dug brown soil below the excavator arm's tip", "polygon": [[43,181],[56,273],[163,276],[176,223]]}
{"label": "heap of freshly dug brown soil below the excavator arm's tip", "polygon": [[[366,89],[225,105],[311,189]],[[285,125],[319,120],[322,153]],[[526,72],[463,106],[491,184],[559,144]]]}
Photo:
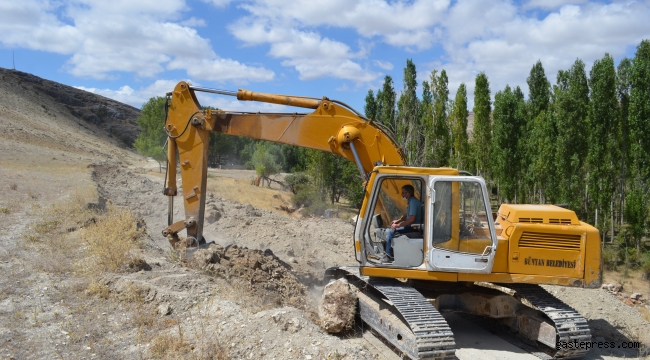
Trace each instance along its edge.
{"label": "heap of freshly dug brown soil below the excavator arm's tip", "polygon": [[190,266],[206,270],[229,282],[248,283],[251,291],[273,305],[305,308],[307,288],[290,272],[288,265],[269,249],[265,251],[222,247],[212,244],[197,250]]}

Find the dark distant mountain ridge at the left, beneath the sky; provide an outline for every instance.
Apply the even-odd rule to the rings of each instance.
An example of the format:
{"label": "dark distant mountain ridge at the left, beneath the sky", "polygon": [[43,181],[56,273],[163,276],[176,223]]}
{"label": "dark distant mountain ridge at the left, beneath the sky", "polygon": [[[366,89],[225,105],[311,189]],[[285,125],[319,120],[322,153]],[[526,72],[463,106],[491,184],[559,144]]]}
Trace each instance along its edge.
{"label": "dark distant mountain ridge at the left, beneath the sky", "polygon": [[127,147],[132,147],[133,141],[140,133],[140,127],[136,122],[140,110],[133,106],[29,73],[2,67],[0,67],[0,82],[3,83],[3,87],[13,86],[15,91],[31,90],[37,97],[48,97],[50,101],[64,106],[74,117],[106,130]]}

